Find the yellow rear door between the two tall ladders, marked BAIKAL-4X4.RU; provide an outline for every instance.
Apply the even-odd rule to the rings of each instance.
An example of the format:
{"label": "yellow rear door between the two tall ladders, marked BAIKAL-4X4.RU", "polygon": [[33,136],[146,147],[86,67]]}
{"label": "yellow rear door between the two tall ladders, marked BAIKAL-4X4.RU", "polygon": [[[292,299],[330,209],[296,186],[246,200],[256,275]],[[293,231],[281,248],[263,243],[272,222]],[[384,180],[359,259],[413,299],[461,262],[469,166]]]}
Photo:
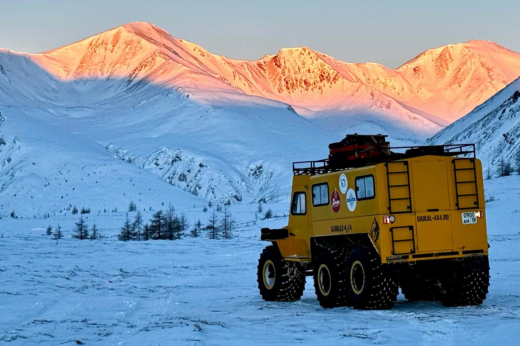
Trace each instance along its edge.
{"label": "yellow rear door between the two tall ladders, marked BAIKAL-4X4.RU", "polygon": [[417,251],[451,250],[448,166],[445,159],[412,161],[413,203],[416,216]]}

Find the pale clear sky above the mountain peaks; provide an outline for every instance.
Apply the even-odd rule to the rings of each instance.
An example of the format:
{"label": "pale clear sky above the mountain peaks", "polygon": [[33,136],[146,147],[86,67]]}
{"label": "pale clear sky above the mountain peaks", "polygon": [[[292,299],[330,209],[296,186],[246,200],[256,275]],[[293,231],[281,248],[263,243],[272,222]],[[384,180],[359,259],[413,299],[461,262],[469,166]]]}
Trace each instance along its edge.
{"label": "pale clear sky above the mountain peaks", "polygon": [[485,39],[520,51],[520,1],[0,0],[0,47],[40,52],[148,21],[237,59],[308,46],[397,67],[425,49]]}

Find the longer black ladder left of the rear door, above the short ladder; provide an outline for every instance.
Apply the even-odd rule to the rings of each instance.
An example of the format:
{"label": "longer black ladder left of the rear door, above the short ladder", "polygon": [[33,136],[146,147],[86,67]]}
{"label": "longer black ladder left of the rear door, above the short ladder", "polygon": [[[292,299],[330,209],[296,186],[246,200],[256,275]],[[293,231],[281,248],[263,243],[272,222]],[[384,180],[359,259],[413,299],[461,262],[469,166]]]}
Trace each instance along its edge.
{"label": "longer black ladder left of the rear door, above the short ladder", "polygon": [[[411,213],[412,197],[408,161],[386,162],[385,167],[388,183],[388,213]],[[391,184],[394,181],[400,183]]]}

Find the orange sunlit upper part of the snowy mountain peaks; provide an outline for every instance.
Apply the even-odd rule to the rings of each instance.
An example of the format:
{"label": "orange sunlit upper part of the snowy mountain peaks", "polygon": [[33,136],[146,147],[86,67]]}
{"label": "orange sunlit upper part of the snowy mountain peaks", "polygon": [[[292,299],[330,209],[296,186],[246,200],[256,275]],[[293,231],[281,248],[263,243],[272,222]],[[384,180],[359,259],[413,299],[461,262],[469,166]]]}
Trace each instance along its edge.
{"label": "orange sunlit upper part of the snowy mountain peaks", "polygon": [[308,47],[283,48],[255,61],[229,59],[146,22],[29,56],[62,79],[146,78],[188,90],[263,96],[289,103],[306,116],[363,109],[426,118],[441,126],[520,75],[520,53],[482,40],[426,50],[391,69],[338,61]]}

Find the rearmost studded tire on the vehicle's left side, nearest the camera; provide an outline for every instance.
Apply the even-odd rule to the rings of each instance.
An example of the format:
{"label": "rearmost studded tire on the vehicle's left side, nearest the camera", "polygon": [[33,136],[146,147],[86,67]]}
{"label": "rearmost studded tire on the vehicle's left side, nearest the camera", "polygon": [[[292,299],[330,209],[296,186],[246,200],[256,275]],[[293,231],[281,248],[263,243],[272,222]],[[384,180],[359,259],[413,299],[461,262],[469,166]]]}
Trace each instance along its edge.
{"label": "rearmost studded tire on the vehicle's left side, nearest the camera", "polygon": [[354,309],[386,310],[394,306],[399,288],[394,275],[370,245],[355,246],[346,261],[347,299]]}

